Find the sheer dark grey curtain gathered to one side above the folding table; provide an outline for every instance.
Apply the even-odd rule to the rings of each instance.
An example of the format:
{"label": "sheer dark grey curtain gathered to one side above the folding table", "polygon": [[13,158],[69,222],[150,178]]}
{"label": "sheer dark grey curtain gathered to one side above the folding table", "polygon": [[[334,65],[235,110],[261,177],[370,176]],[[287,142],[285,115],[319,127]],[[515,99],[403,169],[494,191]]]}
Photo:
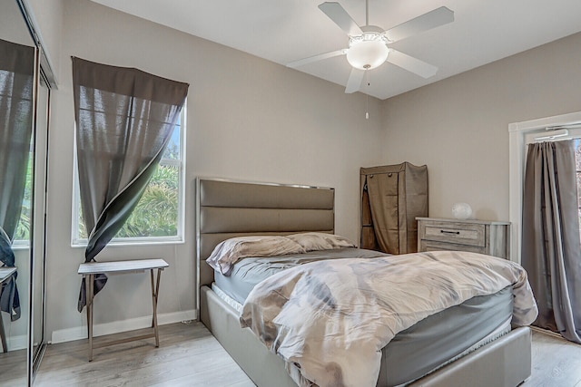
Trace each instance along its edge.
{"label": "sheer dark grey curtain gathered to one side above the folding table", "polygon": [[[188,84],[133,68],[73,58],[76,147],[85,262],[115,236],[139,202],[182,111]],[[95,276],[97,294],[106,283]],[[78,310],[86,304],[81,285]]]}

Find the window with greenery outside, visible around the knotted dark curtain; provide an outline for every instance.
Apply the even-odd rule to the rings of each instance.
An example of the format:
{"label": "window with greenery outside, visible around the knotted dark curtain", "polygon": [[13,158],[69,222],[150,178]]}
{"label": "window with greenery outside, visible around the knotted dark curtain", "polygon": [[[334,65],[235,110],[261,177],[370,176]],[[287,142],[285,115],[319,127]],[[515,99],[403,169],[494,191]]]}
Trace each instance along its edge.
{"label": "window with greenery outside, visible around the knotted dark curtain", "polygon": [[[159,167],[137,207],[111,244],[174,243],[183,240],[185,110],[184,104]],[[74,154],[76,159],[76,151]],[[88,235],[84,227],[76,167],[73,204],[72,245],[85,246]]]}

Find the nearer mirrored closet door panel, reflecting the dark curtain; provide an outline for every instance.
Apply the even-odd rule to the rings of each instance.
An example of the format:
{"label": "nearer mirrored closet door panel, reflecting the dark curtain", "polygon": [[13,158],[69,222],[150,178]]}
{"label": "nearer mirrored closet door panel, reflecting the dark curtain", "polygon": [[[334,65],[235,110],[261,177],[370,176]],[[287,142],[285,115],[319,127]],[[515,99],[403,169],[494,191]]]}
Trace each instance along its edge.
{"label": "nearer mirrored closet door panel, reflecting the dark curtain", "polygon": [[[30,319],[36,48],[18,4],[0,3],[0,386],[25,386]],[[2,266],[0,264],[0,266]]]}

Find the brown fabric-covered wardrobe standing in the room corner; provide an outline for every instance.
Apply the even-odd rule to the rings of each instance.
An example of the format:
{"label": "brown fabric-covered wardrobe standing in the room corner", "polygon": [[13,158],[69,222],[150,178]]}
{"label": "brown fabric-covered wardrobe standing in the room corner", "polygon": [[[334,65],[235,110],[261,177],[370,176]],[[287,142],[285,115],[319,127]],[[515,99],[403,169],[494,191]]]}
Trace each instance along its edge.
{"label": "brown fabric-covered wardrobe standing in the room corner", "polygon": [[361,248],[418,251],[417,217],[428,217],[428,167],[409,162],[361,168]]}

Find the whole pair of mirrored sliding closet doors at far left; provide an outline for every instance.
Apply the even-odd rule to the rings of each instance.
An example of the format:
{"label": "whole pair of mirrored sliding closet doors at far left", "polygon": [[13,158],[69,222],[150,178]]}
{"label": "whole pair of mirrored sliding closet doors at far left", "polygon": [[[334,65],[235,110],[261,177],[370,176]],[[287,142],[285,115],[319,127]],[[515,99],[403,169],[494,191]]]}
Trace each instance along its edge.
{"label": "whole pair of mirrored sliding closet doors at far left", "polygon": [[0,386],[31,385],[44,351],[45,186],[54,79],[28,9],[25,0],[0,2]]}

